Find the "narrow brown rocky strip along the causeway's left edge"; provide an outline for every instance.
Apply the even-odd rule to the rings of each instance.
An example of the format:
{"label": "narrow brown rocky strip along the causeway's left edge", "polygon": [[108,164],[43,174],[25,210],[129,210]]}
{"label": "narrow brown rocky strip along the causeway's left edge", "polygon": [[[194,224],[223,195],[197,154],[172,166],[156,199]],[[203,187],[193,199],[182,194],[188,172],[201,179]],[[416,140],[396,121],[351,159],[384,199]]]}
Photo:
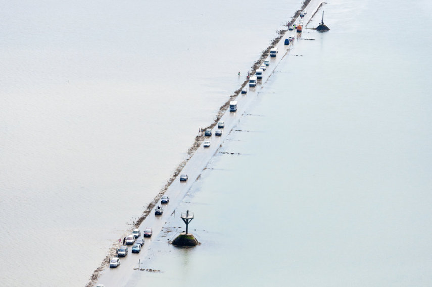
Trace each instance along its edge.
{"label": "narrow brown rocky strip along the causeway's left edge", "polygon": [[[295,22],[295,20],[300,16],[300,12],[303,11],[309,5],[310,2],[311,2],[311,0],[305,0],[302,4],[301,8],[294,13],[294,15],[292,16],[290,21],[287,22],[283,26],[290,27]],[[319,7],[321,7],[321,5]],[[318,9],[317,9],[317,11],[318,11]],[[251,69],[252,69],[251,71],[255,71],[263,63],[264,59],[266,59],[267,56],[269,55],[270,49],[272,47],[274,47],[277,43],[279,43],[279,41],[282,39],[283,35],[286,33],[286,30],[279,30],[279,31],[277,31],[277,33],[278,33],[278,36],[271,41],[271,44],[265,50],[262,51],[260,58],[257,61],[255,61],[255,63],[251,66]],[[238,94],[248,84],[248,82],[249,82],[249,80],[246,79],[242,83],[242,85],[237,90],[235,90],[232,95],[229,96],[228,100],[219,108],[214,122],[211,123],[209,126],[203,128],[204,130],[205,129],[213,129],[215,127],[218,120],[222,117],[222,115],[227,110],[227,108],[229,106],[229,102],[238,96]],[[138,228],[139,225],[142,223],[142,221],[147,218],[147,216],[150,214],[150,211],[155,207],[156,203],[160,200],[160,198],[164,195],[164,193],[167,191],[169,186],[173,183],[173,181],[179,175],[180,171],[183,169],[185,164],[195,154],[195,151],[198,149],[198,147],[200,147],[203,140],[204,140],[204,136],[202,134],[195,137],[194,144],[191,147],[189,147],[189,149],[187,150],[187,158],[184,159],[183,161],[181,161],[177,165],[177,167],[174,170],[174,174],[169,178],[167,183],[159,191],[159,193],[156,195],[156,197],[146,206],[145,211],[143,211],[143,213],[141,214],[141,216],[138,219],[136,219],[133,223],[131,223],[132,227],[129,229],[129,233],[132,232],[132,230],[134,228]],[[121,236],[121,237],[123,237],[123,236]],[[94,283],[98,280],[99,276],[101,275],[101,272],[105,269],[105,267],[108,266],[108,264],[109,264],[108,262],[109,262],[110,258],[115,256],[117,244],[118,244],[117,241],[113,243],[113,245],[111,246],[111,248],[108,251],[107,256],[103,259],[101,265],[93,271],[93,273],[91,274],[89,281],[85,285],[85,287],[92,287],[94,285]]]}

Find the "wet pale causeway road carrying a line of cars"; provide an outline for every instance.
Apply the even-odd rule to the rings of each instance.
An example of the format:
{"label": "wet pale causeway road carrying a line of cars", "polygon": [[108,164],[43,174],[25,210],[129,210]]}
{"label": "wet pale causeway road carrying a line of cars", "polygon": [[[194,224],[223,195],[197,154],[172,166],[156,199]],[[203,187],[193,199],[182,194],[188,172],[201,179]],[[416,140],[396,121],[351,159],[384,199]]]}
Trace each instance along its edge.
{"label": "wet pale causeway road carrying a line of cars", "polygon": [[[310,21],[321,3],[322,1],[320,0],[312,0],[309,3],[309,5],[304,10],[307,12],[303,17],[304,23],[308,23]],[[297,24],[299,21],[300,17],[296,19],[295,23]],[[219,119],[219,121],[223,121],[225,123],[225,127],[221,129],[222,135],[215,136],[215,130],[218,129],[216,125],[216,127],[212,130],[212,135],[210,137],[205,137],[205,140],[208,139],[211,141],[210,147],[203,147],[201,144],[194,155],[184,165],[180,174],[188,175],[188,180],[185,182],[180,182],[178,176],[168,187],[165,195],[169,196],[170,203],[162,205],[164,208],[163,214],[155,215],[155,211],[153,209],[150,211],[147,218],[142,221],[141,225],[139,226],[141,233],[147,226],[149,226],[153,228],[153,236],[145,239],[145,244],[142,246],[140,253],[132,254],[131,245],[129,245],[129,254],[126,257],[120,258],[120,265],[116,268],[106,267],[106,269],[102,271],[97,283],[94,285],[104,284],[106,287],[125,286],[128,278],[130,278],[132,272],[134,272],[134,268],[138,267],[138,262],[144,262],[146,260],[148,257],[148,248],[153,241],[158,239],[164,224],[169,221],[169,217],[173,212],[177,213],[184,211],[176,210],[178,204],[182,201],[196,180],[199,179],[202,170],[206,168],[213,155],[218,152],[228,134],[232,130],[235,130],[237,125],[241,122],[241,118],[248,109],[248,106],[256,96],[259,96],[260,89],[263,87],[263,85],[265,85],[267,79],[274,73],[277,65],[284,58],[284,56],[290,52],[291,47],[295,45],[297,40],[292,42],[290,45],[284,45],[285,38],[288,38],[289,36],[294,36],[297,39],[301,36],[301,33],[297,33],[296,30],[286,31],[281,40],[275,45],[275,47],[278,48],[276,57],[270,58],[270,56],[268,56],[268,58],[265,59],[270,61],[270,65],[264,72],[262,80],[258,81],[256,87],[247,87],[247,94],[239,94],[235,98],[237,101],[237,110],[235,112],[230,112],[228,109]],[[158,205],[161,205],[160,202],[156,204],[156,206]]]}

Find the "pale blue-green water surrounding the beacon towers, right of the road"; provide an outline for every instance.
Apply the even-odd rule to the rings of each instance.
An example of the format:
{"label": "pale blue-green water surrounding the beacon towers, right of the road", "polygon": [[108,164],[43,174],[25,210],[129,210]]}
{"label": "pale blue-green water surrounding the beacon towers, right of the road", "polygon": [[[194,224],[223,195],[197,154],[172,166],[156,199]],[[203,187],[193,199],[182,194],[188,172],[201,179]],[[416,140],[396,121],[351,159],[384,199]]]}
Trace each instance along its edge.
{"label": "pale blue-green water surrounding the beacon towers, right of the road", "polygon": [[324,9],[179,206],[202,245],[153,239],[125,286],[432,284],[430,5]]}

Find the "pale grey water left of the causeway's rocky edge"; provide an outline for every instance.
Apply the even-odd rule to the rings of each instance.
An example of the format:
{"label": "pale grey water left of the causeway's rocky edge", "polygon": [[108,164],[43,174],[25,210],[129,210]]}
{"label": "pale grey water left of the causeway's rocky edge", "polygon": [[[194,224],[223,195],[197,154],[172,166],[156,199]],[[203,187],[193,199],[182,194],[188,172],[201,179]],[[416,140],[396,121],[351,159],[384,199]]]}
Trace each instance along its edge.
{"label": "pale grey water left of the causeway's rocky edge", "polygon": [[0,4],[0,280],[84,285],[299,6]]}

